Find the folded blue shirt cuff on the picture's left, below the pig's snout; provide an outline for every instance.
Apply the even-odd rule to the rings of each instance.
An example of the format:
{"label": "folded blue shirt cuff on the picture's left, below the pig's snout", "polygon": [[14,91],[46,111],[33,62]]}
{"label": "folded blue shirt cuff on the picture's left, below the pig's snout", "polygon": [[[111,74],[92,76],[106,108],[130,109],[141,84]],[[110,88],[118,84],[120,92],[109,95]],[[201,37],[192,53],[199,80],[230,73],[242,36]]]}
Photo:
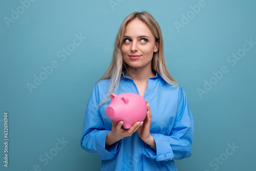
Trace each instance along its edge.
{"label": "folded blue shirt cuff on the picture's left, below the pig's snout", "polygon": [[114,158],[120,148],[120,142],[117,141],[116,143],[111,145],[109,148],[105,149],[106,135],[108,135],[109,132],[110,131],[107,131],[107,130],[99,131],[95,140],[97,153],[101,160],[109,160]]}

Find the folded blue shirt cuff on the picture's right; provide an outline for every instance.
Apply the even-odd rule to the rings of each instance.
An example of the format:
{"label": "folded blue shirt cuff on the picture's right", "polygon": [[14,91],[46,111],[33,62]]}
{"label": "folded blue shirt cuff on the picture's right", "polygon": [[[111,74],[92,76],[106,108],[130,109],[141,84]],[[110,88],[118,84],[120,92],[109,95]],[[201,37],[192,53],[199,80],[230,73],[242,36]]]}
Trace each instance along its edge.
{"label": "folded blue shirt cuff on the picture's right", "polygon": [[156,142],[156,151],[145,143],[142,153],[151,159],[156,159],[156,161],[172,160],[174,158],[173,150],[165,136],[155,133],[151,133],[151,135]]}

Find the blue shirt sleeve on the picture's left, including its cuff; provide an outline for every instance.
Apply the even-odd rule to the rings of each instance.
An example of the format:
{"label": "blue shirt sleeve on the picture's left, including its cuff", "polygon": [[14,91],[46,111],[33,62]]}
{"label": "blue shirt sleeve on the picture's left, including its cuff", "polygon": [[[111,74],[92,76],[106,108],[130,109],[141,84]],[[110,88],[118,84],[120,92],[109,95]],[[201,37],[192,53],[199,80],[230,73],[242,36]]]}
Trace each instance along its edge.
{"label": "blue shirt sleeve on the picture's left, including its cuff", "polygon": [[108,160],[115,157],[120,148],[121,141],[116,142],[108,149],[105,149],[106,135],[111,130],[105,130],[104,122],[100,115],[98,86],[93,89],[89,99],[86,116],[84,117],[81,147],[89,153],[97,153],[101,160]]}

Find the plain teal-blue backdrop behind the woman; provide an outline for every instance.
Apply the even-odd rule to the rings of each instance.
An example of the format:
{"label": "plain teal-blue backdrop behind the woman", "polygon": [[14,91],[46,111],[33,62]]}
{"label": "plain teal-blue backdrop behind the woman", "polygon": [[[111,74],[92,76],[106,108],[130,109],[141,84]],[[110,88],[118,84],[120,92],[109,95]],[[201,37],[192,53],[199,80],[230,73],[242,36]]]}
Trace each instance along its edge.
{"label": "plain teal-blue backdrop behind the woman", "polygon": [[[97,154],[80,147],[86,105],[109,66],[122,20],[145,10],[161,27],[168,70],[186,92],[195,120],[192,156],[176,161],[178,169],[253,170],[256,45],[247,45],[250,50],[236,65],[227,59],[242,52],[245,39],[256,41],[256,2],[205,0],[193,14],[190,6],[199,0],[113,1],[119,2],[113,8],[109,0],[35,1],[27,8],[17,0],[0,2],[1,142],[4,112],[9,113],[9,165],[4,166],[1,143],[0,169],[100,169]],[[5,19],[11,18],[12,9],[20,14],[8,24]],[[182,14],[190,19],[177,29],[175,22],[182,24]],[[59,57],[58,51],[72,48],[80,34],[86,39],[65,60]],[[58,67],[44,75],[42,67],[52,61]],[[228,72],[214,78],[212,72],[223,66]],[[27,83],[34,84],[34,75],[40,73],[45,79],[30,92]],[[198,88],[204,89],[205,80],[214,85],[200,96]],[[65,146],[58,143],[62,138]],[[47,163],[49,152],[54,156]]]}

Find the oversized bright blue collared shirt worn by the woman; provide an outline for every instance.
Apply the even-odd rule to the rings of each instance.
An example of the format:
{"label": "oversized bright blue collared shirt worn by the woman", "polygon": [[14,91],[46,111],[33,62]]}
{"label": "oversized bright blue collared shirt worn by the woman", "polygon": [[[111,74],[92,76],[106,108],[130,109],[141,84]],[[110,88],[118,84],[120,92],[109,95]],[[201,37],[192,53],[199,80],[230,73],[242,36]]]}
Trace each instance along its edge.
{"label": "oversized bright blue collared shirt worn by the woman", "polygon": [[[148,79],[143,98],[150,103],[155,151],[137,132],[105,149],[106,135],[112,129],[112,120],[106,116],[111,100],[96,105],[105,99],[109,87],[110,79],[100,80],[94,86],[84,118],[82,148],[99,155],[101,170],[177,170],[174,160],[191,156],[194,135],[193,116],[183,89],[167,83],[159,73]],[[123,73],[117,95],[121,93],[139,94],[134,81]]]}

